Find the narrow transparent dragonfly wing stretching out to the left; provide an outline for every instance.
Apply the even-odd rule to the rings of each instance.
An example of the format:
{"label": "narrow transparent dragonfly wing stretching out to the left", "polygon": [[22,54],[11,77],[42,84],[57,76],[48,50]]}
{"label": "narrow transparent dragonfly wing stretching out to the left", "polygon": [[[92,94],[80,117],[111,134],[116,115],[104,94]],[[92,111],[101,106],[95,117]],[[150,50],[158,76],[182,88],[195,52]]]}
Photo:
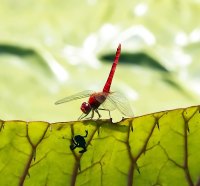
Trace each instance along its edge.
{"label": "narrow transparent dragonfly wing stretching out to the left", "polygon": [[92,91],[92,90],[85,90],[85,91],[82,91],[82,92],[78,92],[77,94],[74,94],[72,96],[68,96],[68,97],[65,97],[63,99],[56,101],[55,104],[58,105],[58,104],[61,104],[61,103],[72,101],[72,100],[89,97],[92,93],[94,93],[94,91]]}

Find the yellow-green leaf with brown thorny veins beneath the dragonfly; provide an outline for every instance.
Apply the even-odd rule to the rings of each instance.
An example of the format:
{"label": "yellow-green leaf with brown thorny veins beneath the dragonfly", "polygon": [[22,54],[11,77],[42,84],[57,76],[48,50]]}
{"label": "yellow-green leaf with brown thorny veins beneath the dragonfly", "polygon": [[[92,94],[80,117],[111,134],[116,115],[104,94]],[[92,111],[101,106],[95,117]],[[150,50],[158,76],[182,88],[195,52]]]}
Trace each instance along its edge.
{"label": "yellow-green leaf with brown thorny veins beneath the dragonfly", "polygon": [[[199,185],[199,112],[194,106],[119,123],[1,121],[0,185]],[[77,135],[84,153],[70,150]]]}

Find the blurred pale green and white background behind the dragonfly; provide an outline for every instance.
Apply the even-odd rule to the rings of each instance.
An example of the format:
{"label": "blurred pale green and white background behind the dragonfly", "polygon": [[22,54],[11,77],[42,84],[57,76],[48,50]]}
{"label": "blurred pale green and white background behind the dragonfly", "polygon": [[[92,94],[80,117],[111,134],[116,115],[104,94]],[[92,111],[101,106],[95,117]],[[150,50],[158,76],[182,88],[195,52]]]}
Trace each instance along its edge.
{"label": "blurred pale green and white background behind the dragonfly", "polygon": [[136,116],[200,103],[199,0],[0,4],[3,120],[76,120],[83,100],[54,102],[102,90],[118,43],[111,88],[130,100]]}

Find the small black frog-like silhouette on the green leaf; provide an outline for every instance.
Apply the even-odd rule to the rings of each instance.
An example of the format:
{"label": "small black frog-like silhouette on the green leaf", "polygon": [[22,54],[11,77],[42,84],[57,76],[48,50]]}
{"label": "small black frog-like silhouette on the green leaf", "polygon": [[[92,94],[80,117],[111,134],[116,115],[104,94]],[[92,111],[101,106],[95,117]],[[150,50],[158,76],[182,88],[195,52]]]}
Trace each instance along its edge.
{"label": "small black frog-like silhouette on the green leaf", "polygon": [[88,135],[88,131],[85,131],[85,136],[81,135],[76,135],[75,137],[72,138],[72,144],[70,145],[70,149],[74,150],[76,147],[81,147],[83,150],[80,150],[79,153],[84,153],[87,151],[86,149],[86,142],[85,138]]}

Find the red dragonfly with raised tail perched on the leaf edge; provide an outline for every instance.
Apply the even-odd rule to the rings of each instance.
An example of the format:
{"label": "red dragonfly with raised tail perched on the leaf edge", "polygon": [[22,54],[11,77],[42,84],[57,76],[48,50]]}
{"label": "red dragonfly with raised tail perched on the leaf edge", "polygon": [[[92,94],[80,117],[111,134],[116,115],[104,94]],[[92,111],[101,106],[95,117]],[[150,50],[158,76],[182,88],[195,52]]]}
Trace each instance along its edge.
{"label": "red dragonfly with raised tail perched on the leaf edge", "polygon": [[103,91],[101,92],[94,92],[91,90],[86,90],[83,92],[79,92],[77,94],[74,94],[72,96],[65,97],[59,101],[57,101],[55,104],[61,104],[65,102],[69,102],[72,100],[77,100],[85,97],[89,97],[88,102],[83,102],[80,109],[82,110],[82,114],[79,117],[79,120],[85,118],[89,113],[92,113],[91,116],[88,119],[92,119],[94,117],[94,112],[98,114],[98,119],[101,117],[99,110],[106,110],[110,111],[118,109],[123,115],[132,117],[133,112],[131,109],[131,106],[128,102],[128,100],[122,95],[117,92],[110,92],[110,86],[112,83],[112,79],[119,61],[121,53],[121,44],[119,44],[114,62],[112,64],[112,68],[110,70],[110,74],[108,76],[108,79],[104,85]]}

